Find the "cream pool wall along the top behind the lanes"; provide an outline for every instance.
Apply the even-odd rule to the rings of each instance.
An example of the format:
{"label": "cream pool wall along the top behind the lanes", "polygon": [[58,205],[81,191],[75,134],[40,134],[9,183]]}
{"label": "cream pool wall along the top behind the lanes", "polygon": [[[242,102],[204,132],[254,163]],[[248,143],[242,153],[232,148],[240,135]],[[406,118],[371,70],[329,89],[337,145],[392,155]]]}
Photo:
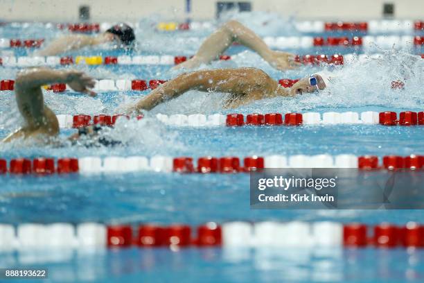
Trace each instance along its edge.
{"label": "cream pool wall along the top behind the lanes", "polygon": [[[223,2],[223,1],[220,1]],[[231,3],[232,1],[225,1]],[[68,22],[80,19],[80,9],[89,8],[89,19],[94,21],[136,21],[141,17],[159,15],[164,19],[210,20],[218,14],[216,0],[162,0],[153,3],[149,0],[45,0],[0,1],[0,19],[3,21]],[[234,1],[239,6],[240,1]],[[250,0],[242,1],[243,9],[274,12],[299,19],[342,19],[364,20],[385,17],[385,0],[339,1],[327,0],[318,3],[314,0]],[[391,0],[393,16],[398,19],[420,19],[423,17],[424,1]],[[225,4],[227,5],[227,4]],[[107,7],[107,8],[105,8]],[[364,9],[366,7],[366,9]],[[389,9],[390,8],[386,8]]]}

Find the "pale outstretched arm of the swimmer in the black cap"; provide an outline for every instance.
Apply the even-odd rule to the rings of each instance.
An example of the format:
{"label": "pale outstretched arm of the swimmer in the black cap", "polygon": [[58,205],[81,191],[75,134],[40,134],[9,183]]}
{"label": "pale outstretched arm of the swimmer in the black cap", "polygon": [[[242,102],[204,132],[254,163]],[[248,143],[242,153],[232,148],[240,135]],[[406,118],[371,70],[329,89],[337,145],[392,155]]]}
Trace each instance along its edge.
{"label": "pale outstretched arm of the swimmer in the black cap", "polygon": [[103,44],[112,40],[112,33],[103,33],[95,37],[89,35],[67,35],[53,40],[45,49],[36,54],[39,56],[57,55],[71,50],[82,49],[85,46]]}

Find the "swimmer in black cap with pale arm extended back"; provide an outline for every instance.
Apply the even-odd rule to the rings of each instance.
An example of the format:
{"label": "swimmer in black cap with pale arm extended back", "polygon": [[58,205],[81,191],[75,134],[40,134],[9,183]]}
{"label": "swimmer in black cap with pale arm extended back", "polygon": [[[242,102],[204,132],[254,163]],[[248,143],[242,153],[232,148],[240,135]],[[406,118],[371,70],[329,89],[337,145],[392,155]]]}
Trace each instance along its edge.
{"label": "swimmer in black cap with pale arm extended back", "polygon": [[134,31],[127,24],[116,24],[105,33],[96,36],[89,35],[67,35],[53,40],[45,49],[39,51],[39,56],[51,56],[66,51],[82,49],[85,46],[94,46],[107,42],[115,42],[119,46],[127,47],[135,40]]}

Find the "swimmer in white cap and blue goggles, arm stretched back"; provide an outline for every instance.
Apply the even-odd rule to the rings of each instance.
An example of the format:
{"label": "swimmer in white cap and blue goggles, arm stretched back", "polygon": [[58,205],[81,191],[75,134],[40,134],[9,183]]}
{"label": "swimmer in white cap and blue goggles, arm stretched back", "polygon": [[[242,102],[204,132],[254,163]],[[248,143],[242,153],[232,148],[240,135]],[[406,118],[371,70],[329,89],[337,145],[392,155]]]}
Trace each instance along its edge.
{"label": "swimmer in white cap and blue goggles, arm stretched back", "polygon": [[230,96],[224,106],[237,108],[263,98],[316,92],[325,89],[327,85],[328,79],[324,74],[302,78],[290,89],[286,89],[264,71],[256,68],[201,70],[181,74],[160,85],[148,96],[127,108],[127,113],[136,114],[142,110],[151,110],[160,103],[176,98],[189,90],[228,93]]}

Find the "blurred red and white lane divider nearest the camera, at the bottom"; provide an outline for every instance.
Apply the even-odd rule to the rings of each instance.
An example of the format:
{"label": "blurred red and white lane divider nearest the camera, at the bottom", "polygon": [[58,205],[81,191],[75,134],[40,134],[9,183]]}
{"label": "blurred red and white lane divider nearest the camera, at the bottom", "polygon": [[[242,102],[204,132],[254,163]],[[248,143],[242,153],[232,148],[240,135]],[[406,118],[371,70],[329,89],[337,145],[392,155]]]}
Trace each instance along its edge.
{"label": "blurred red and white lane divider nearest the camera, at the bottom", "polygon": [[[371,235],[371,236],[370,236]],[[0,224],[0,250],[28,248],[344,247],[424,248],[424,225],[233,221],[185,224]]]}

